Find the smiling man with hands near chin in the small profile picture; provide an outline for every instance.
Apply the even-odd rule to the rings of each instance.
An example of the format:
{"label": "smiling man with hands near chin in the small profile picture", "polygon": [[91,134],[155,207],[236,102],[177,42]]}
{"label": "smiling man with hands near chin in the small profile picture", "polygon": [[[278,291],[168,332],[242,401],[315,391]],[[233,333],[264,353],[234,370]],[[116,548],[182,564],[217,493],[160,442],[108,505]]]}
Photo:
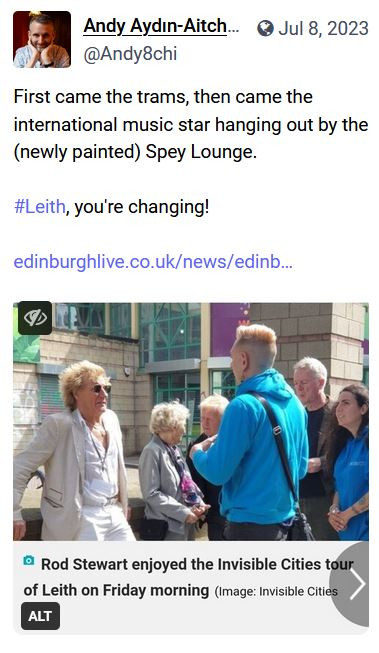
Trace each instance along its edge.
{"label": "smiling man with hands near chin in the small profile picture", "polygon": [[28,43],[19,48],[14,58],[16,68],[68,68],[70,57],[67,50],[54,43],[54,21],[47,14],[31,17]]}

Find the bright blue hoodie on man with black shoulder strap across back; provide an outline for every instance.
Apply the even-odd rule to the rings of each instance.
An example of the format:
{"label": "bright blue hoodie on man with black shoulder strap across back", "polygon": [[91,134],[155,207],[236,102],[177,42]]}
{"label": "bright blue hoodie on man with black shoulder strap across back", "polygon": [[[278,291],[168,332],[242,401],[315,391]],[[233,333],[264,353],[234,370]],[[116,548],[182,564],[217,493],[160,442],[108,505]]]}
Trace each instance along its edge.
{"label": "bright blue hoodie on man with black shoulder strap across back", "polygon": [[221,514],[232,522],[275,524],[295,514],[271,423],[254,390],[270,403],[287,452],[295,488],[308,467],[307,415],[284,377],[269,369],[243,381],[208,451],[197,451],[197,471],[222,485]]}

